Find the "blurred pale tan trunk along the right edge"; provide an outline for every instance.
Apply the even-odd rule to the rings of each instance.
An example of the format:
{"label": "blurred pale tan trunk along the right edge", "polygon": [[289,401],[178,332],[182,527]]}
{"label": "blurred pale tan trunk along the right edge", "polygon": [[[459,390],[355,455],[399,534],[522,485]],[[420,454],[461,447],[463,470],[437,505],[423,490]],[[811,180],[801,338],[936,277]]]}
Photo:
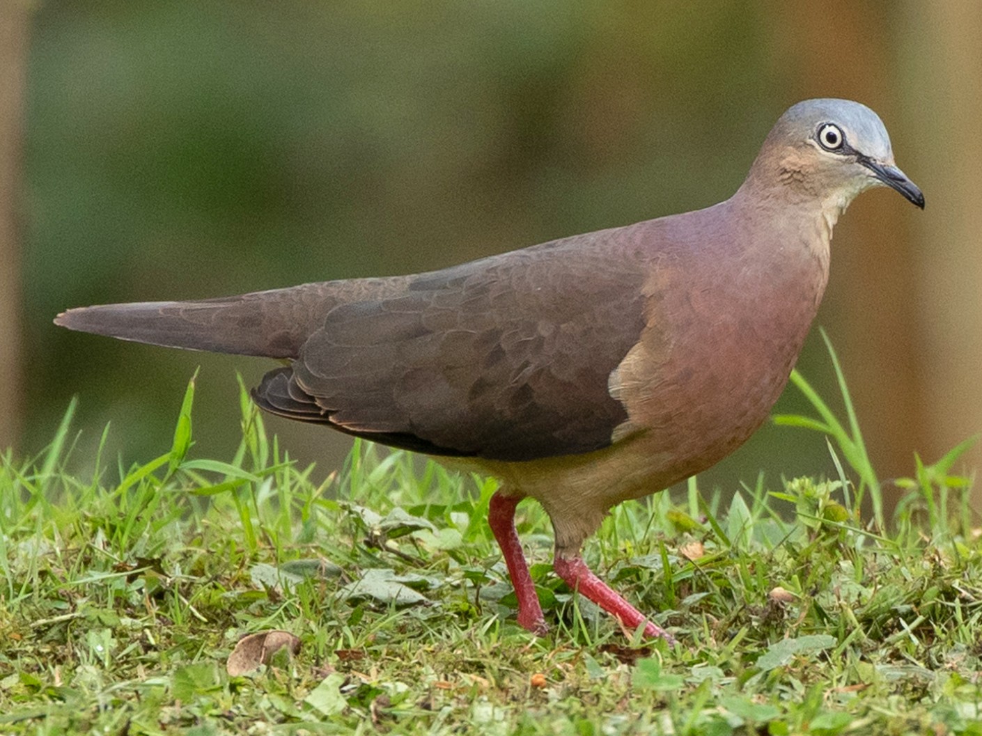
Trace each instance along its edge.
{"label": "blurred pale tan trunk along the right edge", "polygon": [[[982,3],[903,7],[911,32],[900,48],[901,88],[910,90],[904,102],[917,142],[911,167],[920,159],[934,176],[921,183],[928,217],[918,219],[921,246],[912,253],[932,439],[924,459],[934,460],[982,430]],[[944,196],[932,199],[932,189]],[[980,462],[976,444],[955,471]],[[976,485],[976,499],[980,492]]]}

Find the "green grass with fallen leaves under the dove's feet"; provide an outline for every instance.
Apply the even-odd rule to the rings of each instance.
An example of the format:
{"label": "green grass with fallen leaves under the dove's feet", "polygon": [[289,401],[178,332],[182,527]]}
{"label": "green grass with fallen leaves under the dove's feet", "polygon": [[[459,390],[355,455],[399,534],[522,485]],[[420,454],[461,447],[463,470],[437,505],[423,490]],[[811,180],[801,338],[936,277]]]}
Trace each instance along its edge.
{"label": "green grass with fallen leaves under the dove's feet", "polygon": [[[888,524],[840,379],[845,423],[796,374],[818,418],[778,418],[824,432],[839,478],[727,500],[690,481],[587,546],[674,647],[558,581],[531,502],[552,633],[518,628],[492,481],[368,444],[321,479],[245,392],[235,456],[196,458],[193,381],[159,457],[76,457],[72,406],[40,454],[0,463],[0,733],[982,734],[964,447],[914,458]],[[237,648],[267,631],[296,656],[275,636]]]}

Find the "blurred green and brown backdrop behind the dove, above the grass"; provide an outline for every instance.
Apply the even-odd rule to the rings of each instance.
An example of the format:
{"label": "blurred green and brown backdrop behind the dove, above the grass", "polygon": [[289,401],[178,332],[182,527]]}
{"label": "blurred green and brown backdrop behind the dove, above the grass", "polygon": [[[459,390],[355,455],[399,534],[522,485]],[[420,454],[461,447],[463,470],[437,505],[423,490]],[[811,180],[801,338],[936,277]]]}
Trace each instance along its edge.
{"label": "blurred green and brown backdrop behind the dove, above the grass", "polygon": [[[51,324],[67,307],[436,269],[695,209],[785,108],[841,96],[880,113],[927,196],[856,201],[818,319],[874,463],[909,473],[982,429],[980,8],[6,0],[24,83],[4,444],[40,450],[78,394],[82,452],[111,421],[111,451],[146,460],[200,364],[194,451],[227,456],[234,372],[271,367],[72,334]],[[832,395],[817,333],[799,367]],[[319,474],[349,447],[268,425]],[[706,482],[760,470],[834,473],[822,438],[769,426]]]}

